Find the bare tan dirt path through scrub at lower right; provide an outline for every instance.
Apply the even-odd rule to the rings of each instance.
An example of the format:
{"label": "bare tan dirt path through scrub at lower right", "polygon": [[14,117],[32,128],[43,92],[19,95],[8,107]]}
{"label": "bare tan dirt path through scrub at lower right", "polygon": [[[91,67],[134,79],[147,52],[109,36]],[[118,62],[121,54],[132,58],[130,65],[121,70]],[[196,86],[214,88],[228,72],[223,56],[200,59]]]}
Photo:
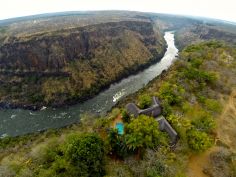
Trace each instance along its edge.
{"label": "bare tan dirt path through scrub at lower right", "polygon": [[[217,119],[217,139],[236,152],[236,89],[233,89],[229,99],[225,102],[222,114]],[[220,147],[214,146],[206,152],[190,157],[188,177],[209,177],[203,173],[204,167],[209,165],[210,154]]]}

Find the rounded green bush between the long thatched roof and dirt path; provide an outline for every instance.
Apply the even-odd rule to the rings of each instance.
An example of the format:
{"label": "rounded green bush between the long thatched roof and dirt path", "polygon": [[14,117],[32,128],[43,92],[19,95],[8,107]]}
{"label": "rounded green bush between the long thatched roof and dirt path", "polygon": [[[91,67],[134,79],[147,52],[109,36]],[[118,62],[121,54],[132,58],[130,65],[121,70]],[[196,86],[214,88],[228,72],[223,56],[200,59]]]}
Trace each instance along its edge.
{"label": "rounded green bush between the long thatched roof and dirt path", "polygon": [[189,147],[196,152],[205,151],[211,147],[213,143],[207,133],[195,129],[191,129],[187,132],[187,138]]}

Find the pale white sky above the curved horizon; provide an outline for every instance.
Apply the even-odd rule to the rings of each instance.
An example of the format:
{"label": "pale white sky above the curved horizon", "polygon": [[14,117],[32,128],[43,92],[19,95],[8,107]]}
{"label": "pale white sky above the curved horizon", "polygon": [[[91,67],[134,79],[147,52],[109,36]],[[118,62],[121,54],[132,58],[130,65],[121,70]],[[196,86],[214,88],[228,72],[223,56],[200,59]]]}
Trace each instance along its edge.
{"label": "pale white sky above the curved horizon", "polygon": [[0,20],[63,11],[131,10],[236,22],[236,0],[0,0]]}

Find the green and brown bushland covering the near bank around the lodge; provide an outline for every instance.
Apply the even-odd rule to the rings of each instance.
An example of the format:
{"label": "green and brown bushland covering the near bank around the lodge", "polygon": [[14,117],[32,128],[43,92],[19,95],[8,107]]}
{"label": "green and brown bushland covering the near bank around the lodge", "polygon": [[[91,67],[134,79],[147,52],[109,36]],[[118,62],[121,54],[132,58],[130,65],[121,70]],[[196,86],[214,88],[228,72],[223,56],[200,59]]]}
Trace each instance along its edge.
{"label": "green and brown bushland covering the near bank around the lodge", "polygon": [[[79,125],[44,133],[31,141],[23,138],[23,142],[18,143],[21,139],[2,139],[1,173],[5,176],[71,176],[74,167],[81,165],[81,171],[74,176],[81,176],[77,174],[80,172],[84,176],[100,176],[105,170],[107,177],[183,177],[188,174],[190,157],[216,146],[219,150],[212,153],[212,163],[205,167],[205,172],[213,177],[235,176],[235,149],[229,148],[222,139],[214,144],[217,126],[220,126],[217,120],[224,106],[222,99],[227,99],[236,86],[235,51],[235,47],[219,42],[191,45],[180,53],[179,60],[165,75],[127,98],[134,101],[139,97],[139,102],[146,104],[148,94],[152,93],[161,99],[163,114],[180,136],[174,149],[168,146],[168,137],[156,129],[153,118],[134,119],[116,108],[104,118],[94,121],[94,117],[87,115]],[[116,130],[107,131],[120,113],[126,122],[124,136]],[[71,133],[79,135],[68,138]],[[84,145],[86,148],[81,151]],[[93,155],[95,151],[99,152]],[[87,158],[94,163],[88,164]]]}

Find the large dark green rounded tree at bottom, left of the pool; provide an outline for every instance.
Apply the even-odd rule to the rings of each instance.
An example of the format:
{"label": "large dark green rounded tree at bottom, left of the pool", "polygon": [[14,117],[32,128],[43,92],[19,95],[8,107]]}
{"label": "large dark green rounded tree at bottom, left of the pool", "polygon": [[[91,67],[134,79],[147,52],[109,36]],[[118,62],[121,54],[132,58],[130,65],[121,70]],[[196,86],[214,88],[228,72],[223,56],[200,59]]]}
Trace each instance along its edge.
{"label": "large dark green rounded tree at bottom, left of the pool", "polygon": [[95,134],[73,135],[65,145],[66,159],[77,167],[77,176],[103,176],[104,155],[103,141]]}

